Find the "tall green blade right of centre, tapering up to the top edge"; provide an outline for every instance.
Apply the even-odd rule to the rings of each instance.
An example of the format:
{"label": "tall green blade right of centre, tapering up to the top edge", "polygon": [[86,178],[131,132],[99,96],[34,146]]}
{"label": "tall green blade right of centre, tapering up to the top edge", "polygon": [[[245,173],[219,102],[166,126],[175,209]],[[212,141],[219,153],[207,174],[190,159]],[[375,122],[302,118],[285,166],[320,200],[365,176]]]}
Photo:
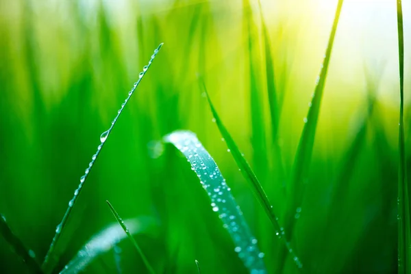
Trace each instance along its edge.
{"label": "tall green blade right of centre, tapering up to the top edge", "polygon": [[340,18],[340,11],[343,6],[343,0],[338,0],[336,14],[334,16],[334,23],[329,35],[327,50],[325,51],[323,64],[321,65],[320,74],[316,79],[316,87],[314,94],[312,94],[312,101],[310,102],[310,109],[308,110],[307,118],[304,118],[303,133],[301,134],[297,154],[295,155],[295,162],[292,172],[290,184],[288,184],[288,206],[286,208],[286,223],[285,229],[288,233],[287,239],[290,240],[292,232],[295,227],[295,210],[301,206],[304,193],[304,180],[308,174],[310,167],[310,159],[312,148],[314,146],[314,137],[316,132],[316,125],[319,119],[321,99],[323,98],[323,90],[325,79],[327,77],[327,70],[329,65],[329,58],[334,44],[334,37]]}

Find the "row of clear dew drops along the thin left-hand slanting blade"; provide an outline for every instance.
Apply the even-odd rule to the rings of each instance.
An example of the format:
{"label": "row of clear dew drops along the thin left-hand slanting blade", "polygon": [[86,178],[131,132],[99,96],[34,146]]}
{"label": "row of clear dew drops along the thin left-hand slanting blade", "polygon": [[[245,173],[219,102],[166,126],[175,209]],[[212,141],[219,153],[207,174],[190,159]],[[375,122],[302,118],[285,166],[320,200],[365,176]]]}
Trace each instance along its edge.
{"label": "row of clear dew drops along the thin left-hand slanting blade", "polygon": [[[88,163],[88,167],[86,168],[86,171],[84,172],[84,175],[80,178],[80,184],[77,187],[77,189],[74,191],[74,196],[73,199],[70,200],[69,202],[69,208],[73,207],[73,205],[75,204],[75,201],[77,200],[77,197],[80,193],[80,191],[82,191],[83,188],[83,184],[86,181],[86,178],[88,176],[88,174],[90,173],[90,169],[92,168],[92,165],[94,165],[97,156],[99,156],[99,153],[101,151],[101,148],[103,148],[103,145],[105,143],[105,140],[108,138],[108,135],[110,135],[110,132],[112,131],[112,128],[114,127],[114,124],[116,124],[116,121],[119,119],[121,113],[123,112],[123,109],[125,107],[125,105],[127,104],[127,102],[129,101],[129,99],[131,98],[131,96],[134,94],[134,91],[136,90],[136,88],[138,87],[138,84],[140,83],[140,81],[142,80],[142,77],[144,77],[145,73],[147,72],[147,70],[149,69],[149,67],[151,66],[151,63],[153,62],[155,55],[157,55],[158,51],[161,49],[162,45],[164,43],[161,43],[157,49],[154,50],[153,55],[151,55],[151,59],[149,61],[149,63],[147,64],[147,66],[144,66],[142,68],[142,72],[140,72],[140,74],[138,74],[138,81],[136,81],[136,83],[134,83],[132,90],[129,91],[127,98],[125,98],[124,102],[121,104],[121,108],[119,109],[119,111],[117,111],[117,115],[114,118],[114,120],[111,123],[110,128],[108,128],[107,131],[104,131],[103,133],[101,133],[100,135],[100,141],[101,143],[99,144],[99,146],[97,147],[97,152],[92,155],[91,161],[90,163]],[[60,223],[57,228],[55,229],[55,233],[56,234],[60,234],[60,231],[62,229],[62,223]]]}

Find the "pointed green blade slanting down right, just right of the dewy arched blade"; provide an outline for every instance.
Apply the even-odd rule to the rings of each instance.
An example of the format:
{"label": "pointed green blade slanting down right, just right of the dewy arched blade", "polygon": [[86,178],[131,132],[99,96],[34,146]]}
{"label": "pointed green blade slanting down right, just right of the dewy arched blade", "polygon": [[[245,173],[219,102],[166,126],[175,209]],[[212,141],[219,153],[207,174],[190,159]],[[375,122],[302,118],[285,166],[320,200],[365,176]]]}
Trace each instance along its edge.
{"label": "pointed green blade slanting down right, just right of the dewy arched blade", "polygon": [[223,122],[221,121],[219,114],[217,113],[216,109],[214,108],[214,105],[212,104],[212,101],[210,99],[210,96],[206,88],[206,84],[202,81],[202,79],[200,79],[200,87],[207,96],[208,105],[210,105],[212,115],[214,117],[214,120],[216,121],[219,131],[221,135],[223,136],[225,142],[227,143],[229,152],[231,152],[234,158],[234,161],[236,161],[238,167],[240,168],[242,176],[244,176],[247,182],[249,182],[251,190],[253,191],[254,195],[256,196],[262,208],[264,209],[267,217],[269,217],[269,220],[273,224],[275,235],[277,235],[279,238],[282,238],[282,240],[285,243],[286,249],[290,253],[290,256],[292,256],[297,266],[299,268],[302,268],[303,264],[301,264],[301,262],[299,261],[299,258],[293,251],[294,249],[290,247],[290,243],[286,241],[286,238],[284,237],[284,235],[286,234],[286,231],[284,231],[284,228],[282,228],[282,226],[279,225],[278,218],[274,213],[273,206],[271,205],[271,202],[269,201],[269,197],[267,197],[266,193],[264,192],[264,189],[262,189],[260,181],[258,180],[256,174],[254,174],[253,172],[253,169],[251,169],[249,163],[245,159],[244,154],[240,152],[240,149],[238,148],[236,142],[231,137],[231,135],[227,131],[227,128],[225,128]]}

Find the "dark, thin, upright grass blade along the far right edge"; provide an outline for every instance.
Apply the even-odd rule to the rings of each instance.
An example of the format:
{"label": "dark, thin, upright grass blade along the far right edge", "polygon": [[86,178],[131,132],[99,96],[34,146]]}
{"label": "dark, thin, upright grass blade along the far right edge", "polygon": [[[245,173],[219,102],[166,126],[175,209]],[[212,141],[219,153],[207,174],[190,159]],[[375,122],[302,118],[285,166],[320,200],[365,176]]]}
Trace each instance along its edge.
{"label": "dark, thin, upright grass blade along the far right edge", "polygon": [[398,57],[399,57],[399,169],[398,169],[398,273],[410,273],[410,201],[406,184],[406,146],[404,139],[404,35],[401,0],[397,0]]}

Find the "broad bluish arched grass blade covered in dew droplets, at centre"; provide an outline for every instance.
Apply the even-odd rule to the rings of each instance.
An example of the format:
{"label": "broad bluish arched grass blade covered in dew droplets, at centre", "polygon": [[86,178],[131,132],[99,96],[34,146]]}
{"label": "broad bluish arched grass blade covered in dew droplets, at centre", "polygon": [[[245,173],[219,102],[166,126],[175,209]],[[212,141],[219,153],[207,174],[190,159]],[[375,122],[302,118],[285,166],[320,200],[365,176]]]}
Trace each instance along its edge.
{"label": "broad bluish arched grass blade covered in dew droplets, at centre", "polygon": [[227,229],[236,245],[234,251],[238,253],[249,272],[266,273],[262,260],[264,254],[258,249],[257,239],[251,234],[219,167],[197,136],[190,131],[174,131],[164,136],[164,141],[172,143],[190,162],[191,169],[195,171],[211,199],[212,210],[219,213],[223,227]]}

